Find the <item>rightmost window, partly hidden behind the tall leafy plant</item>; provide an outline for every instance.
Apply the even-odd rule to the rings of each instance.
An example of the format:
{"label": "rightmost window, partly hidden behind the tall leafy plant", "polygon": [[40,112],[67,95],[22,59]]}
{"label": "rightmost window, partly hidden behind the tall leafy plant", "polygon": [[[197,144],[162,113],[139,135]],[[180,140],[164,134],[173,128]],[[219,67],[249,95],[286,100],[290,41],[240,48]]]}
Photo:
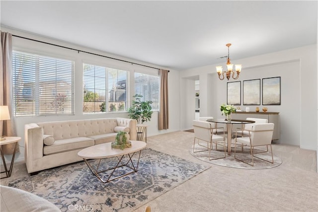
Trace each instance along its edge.
{"label": "rightmost window, partly hidden behind the tall leafy plant", "polygon": [[159,110],[159,76],[135,73],[135,94],[143,96],[142,101],[153,101],[153,110]]}

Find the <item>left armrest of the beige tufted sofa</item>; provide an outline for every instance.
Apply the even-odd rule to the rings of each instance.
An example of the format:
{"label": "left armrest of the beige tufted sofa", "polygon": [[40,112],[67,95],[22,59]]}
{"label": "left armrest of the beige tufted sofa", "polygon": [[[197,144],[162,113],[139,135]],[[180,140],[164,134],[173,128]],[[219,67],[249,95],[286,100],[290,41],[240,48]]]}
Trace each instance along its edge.
{"label": "left armrest of the beige tufted sofa", "polygon": [[34,123],[24,125],[24,144],[25,164],[28,170],[32,170],[33,160],[43,157],[42,127]]}

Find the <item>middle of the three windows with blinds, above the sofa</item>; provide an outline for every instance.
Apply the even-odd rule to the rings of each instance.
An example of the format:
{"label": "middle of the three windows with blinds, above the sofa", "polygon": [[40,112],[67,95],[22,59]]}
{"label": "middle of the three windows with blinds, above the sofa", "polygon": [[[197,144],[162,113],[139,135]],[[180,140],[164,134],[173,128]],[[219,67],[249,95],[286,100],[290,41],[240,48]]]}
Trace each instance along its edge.
{"label": "middle of the three windows with blinds, above the sofa", "polygon": [[128,71],[83,64],[83,112],[127,110]]}

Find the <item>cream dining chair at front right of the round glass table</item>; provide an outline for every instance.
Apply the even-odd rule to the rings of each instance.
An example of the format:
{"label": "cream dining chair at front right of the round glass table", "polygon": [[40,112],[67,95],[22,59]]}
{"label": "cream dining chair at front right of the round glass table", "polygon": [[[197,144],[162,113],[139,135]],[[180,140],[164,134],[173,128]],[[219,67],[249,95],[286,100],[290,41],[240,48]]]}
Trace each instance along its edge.
{"label": "cream dining chair at front right of the round glass table", "polygon": [[[262,153],[262,152],[268,152],[268,146],[270,146],[270,152],[272,156],[272,161],[265,160],[263,158],[257,157],[259,159],[265,160],[270,163],[274,163],[273,158],[273,150],[272,150],[272,138],[273,138],[273,131],[274,131],[274,124],[273,123],[264,123],[264,124],[255,124],[253,123],[251,126],[251,130],[248,130],[248,137],[237,137],[235,138],[235,149],[234,149],[234,158],[242,161],[244,163],[247,163],[251,166],[254,166],[254,157],[255,154]],[[236,157],[236,146],[237,142],[243,143],[245,145],[250,146],[250,154],[252,157],[252,163],[245,162],[243,160],[240,160]],[[266,151],[261,152],[254,152],[255,146],[265,146],[266,145]]]}

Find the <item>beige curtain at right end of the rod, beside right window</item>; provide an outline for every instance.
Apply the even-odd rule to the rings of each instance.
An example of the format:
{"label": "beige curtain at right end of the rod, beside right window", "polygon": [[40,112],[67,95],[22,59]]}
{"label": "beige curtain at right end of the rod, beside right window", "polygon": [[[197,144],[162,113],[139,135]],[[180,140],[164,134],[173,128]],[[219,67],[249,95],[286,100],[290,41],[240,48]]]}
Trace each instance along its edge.
{"label": "beige curtain at right end of the rod, beside right window", "polygon": [[160,77],[160,105],[158,113],[158,130],[169,129],[168,104],[168,70],[159,70]]}

